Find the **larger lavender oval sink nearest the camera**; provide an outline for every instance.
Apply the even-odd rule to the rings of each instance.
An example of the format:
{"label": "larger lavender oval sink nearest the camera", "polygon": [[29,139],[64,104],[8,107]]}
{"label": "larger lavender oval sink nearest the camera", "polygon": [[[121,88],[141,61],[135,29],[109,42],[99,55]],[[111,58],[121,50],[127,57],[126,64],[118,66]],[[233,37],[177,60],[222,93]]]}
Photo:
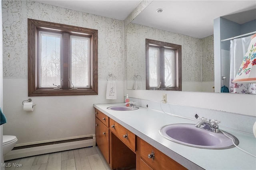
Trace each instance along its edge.
{"label": "larger lavender oval sink nearest the camera", "polygon": [[[222,132],[210,132],[205,129],[196,128],[195,124],[170,124],[159,130],[160,134],[172,142],[204,149],[228,149],[235,147],[231,139]],[[224,132],[234,140],[236,145],[239,140],[228,132]]]}

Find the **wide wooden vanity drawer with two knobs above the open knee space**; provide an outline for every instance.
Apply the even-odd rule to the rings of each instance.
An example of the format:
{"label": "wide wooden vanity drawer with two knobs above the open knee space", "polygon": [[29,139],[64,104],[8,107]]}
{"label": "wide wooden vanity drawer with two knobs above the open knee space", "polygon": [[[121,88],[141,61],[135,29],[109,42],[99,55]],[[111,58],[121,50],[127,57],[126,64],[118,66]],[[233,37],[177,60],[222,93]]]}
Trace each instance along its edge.
{"label": "wide wooden vanity drawer with two knobs above the open knee space", "polygon": [[111,118],[109,119],[110,130],[128,146],[133,152],[135,152],[135,134],[118,124]]}

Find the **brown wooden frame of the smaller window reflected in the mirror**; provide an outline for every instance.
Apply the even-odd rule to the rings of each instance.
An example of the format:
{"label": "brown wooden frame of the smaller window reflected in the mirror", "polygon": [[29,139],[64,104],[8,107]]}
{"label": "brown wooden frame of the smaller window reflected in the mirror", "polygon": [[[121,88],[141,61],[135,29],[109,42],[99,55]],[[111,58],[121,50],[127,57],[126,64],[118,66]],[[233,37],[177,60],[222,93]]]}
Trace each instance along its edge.
{"label": "brown wooden frame of the smaller window reflected in the mirror", "polygon": [[[164,57],[164,48],[168,47],[174,50],[175,54],[175,78],[174,78],[174,86],[170,88],[166,88],[165,84],[162,83],[159,88],[150,87],[149,85],[149,48],[150,44],[153,46],[158,47],[160,49],[160,57]],[[181,59],[181,51],[182,46],[177,44],[172,44],[168,42],[161,42],[157,40],[150,40],[146,39],[146,90],[174,90],[174,91],[181,91],[182,90],[182,59]],[[164,80],[164,62],[160,62],[160,81]]]}

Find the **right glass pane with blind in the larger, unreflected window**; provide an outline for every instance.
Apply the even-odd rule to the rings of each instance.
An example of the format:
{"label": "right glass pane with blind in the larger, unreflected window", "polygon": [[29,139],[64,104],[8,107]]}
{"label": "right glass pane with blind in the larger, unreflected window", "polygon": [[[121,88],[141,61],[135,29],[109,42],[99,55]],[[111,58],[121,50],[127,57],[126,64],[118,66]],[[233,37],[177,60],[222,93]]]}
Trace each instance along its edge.
{"label": "right glass pane with blind in the larger, unreflected window", "polygon": [[90,85],[90,38],[70,36],[71,82],[74,87]]}

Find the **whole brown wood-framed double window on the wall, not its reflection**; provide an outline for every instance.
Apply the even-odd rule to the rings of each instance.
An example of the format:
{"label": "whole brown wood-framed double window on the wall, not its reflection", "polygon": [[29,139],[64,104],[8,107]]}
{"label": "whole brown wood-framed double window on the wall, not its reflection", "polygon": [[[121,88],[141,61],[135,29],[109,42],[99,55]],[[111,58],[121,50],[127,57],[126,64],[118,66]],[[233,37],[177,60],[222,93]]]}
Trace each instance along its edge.
{"label": "whole brown wood-framed double window on the wall, not its reflection", "polygon": [[98,30],[28,19],[28,96],[98,94]]}

